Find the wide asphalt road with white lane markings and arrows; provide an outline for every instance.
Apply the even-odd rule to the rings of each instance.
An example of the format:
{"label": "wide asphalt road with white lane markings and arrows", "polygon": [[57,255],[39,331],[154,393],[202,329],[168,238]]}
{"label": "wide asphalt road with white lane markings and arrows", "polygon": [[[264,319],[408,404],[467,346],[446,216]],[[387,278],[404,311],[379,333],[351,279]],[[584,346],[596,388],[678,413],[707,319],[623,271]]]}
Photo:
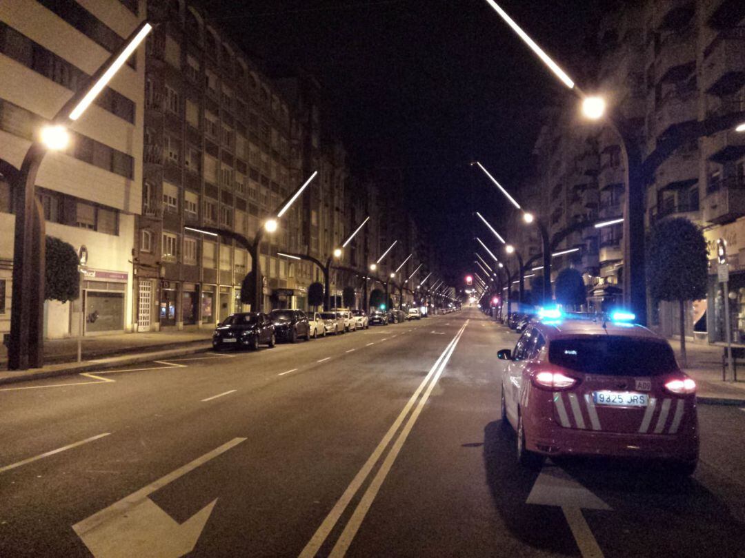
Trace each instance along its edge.
{"label": "wide asphalt road with white lane markings and arrows", "polygon": [[0,557],[745,555],[744,411],[700,405],[690,480],[528,472],[498,420],[515,341],[463,310],[4,386]]}

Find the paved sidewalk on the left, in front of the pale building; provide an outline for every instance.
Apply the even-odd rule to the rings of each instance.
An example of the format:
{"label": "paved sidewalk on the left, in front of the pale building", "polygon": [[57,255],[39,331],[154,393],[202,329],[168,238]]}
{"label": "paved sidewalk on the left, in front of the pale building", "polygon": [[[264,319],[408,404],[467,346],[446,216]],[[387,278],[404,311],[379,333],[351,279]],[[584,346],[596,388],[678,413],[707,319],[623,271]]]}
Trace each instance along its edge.
{"label": "paved sidewalk on the left, in front of the pale building", "polygon": [[199,353],[212,347],[212,330],[152,333],[83,338],[83,362],[77,362],[77,339],[44,342],[44,367],[7,371],[7,348],[0,347],[0,384],[101,370],[154,359]]}

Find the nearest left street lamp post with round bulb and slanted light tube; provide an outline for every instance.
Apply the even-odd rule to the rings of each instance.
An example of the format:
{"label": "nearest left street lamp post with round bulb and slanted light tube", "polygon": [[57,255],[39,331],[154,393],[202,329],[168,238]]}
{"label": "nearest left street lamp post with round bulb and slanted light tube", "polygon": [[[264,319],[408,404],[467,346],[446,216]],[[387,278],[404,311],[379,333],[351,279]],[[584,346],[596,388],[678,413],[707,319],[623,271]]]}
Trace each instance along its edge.
{"label": "nearest left street lamp post with round bulb and slanted light tube", "polygon": [[[141,22],[109,59],[54,115],[28,148],[13,185],[16,228],[13,238],[13,295],[10,310],[8,369],[28,370],[44,364],[45,223],[36,199],[36,178],[48,150],[64,149],[66,126],[77,121],[152,30]],[[82,310],[81,310],[82,311]]]}

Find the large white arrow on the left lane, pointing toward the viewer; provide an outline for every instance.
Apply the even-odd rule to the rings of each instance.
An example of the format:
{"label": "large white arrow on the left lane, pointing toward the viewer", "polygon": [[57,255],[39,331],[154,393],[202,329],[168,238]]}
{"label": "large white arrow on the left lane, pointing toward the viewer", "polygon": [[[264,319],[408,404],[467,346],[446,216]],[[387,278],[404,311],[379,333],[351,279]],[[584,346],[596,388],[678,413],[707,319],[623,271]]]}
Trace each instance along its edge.
{"label": "large white arrow on the left lane, pointing toward the viewer", "polygon": [[148,496],[226,452],[246,438],[233,438],[165,477],[148,484],[72,526],[97,558],[180,557],[194,550],[217,498],[179,525]]}

